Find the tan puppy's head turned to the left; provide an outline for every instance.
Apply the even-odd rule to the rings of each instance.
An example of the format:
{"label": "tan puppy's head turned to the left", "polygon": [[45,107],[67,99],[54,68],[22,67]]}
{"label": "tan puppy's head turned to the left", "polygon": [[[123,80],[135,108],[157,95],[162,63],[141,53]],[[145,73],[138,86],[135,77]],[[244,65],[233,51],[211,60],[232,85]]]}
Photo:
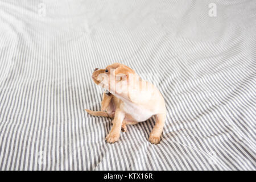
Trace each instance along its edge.
{"label": "tan puppy's head turned to the left", "polygon": [[133,69],[121,63],[108,65],[105,69],[94,69],[93,81],[113,94],[124,94],[129,86],[129,79],[133,77]]}

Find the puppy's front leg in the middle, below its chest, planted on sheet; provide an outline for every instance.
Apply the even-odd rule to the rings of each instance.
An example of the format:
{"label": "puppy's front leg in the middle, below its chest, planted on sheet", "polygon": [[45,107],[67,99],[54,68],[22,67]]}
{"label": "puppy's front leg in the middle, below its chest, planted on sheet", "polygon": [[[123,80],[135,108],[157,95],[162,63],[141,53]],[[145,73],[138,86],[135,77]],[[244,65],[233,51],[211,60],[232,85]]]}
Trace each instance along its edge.
{"label": "puppy's front leg in the middle, below its chest, planted on sheet", "polygon": [[125,118],[125,114],[121,110],[115,111],[115,117],[113,119],[113,126],[109,134],[106,136],[105,140],[108,143],[117,142],[120,137],[120,130],[122,127],[122,121]]}

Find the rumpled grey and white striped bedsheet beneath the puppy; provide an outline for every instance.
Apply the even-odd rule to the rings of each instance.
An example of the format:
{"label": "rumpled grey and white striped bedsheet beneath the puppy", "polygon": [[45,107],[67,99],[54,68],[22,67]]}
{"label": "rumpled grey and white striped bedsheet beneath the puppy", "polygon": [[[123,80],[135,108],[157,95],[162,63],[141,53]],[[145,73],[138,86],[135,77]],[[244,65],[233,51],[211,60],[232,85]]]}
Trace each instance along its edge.
{"label": "rumpled grey and white striped bedsheet beneath the puppy", "polygon": [[[0,1],[1,170],[255,170],[256,3]],[[108,144],[94,68],[119,62],[162,92]]]}

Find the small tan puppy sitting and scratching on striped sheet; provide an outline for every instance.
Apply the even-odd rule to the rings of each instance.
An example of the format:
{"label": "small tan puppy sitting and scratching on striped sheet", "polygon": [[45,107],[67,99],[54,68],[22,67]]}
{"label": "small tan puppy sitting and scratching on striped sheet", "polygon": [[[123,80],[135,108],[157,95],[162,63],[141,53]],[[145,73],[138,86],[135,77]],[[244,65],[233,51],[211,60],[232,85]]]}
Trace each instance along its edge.
{"label": "small tan puppy sitting and scratching on striped sheet", "polygon": [[105,88],[101,102],[101,111],[86,111],[95,116],[112,118],[113,127],[105,140],[117,142],[120,131],[126,131],[126,125],[135,125],[155,115],[155,126],[149,141],[160,142],[166,120],[166,104],[159,90],[150,82],[142,80],[133,69],[120,63],[108,65],[105,69],[94,69],[93,81]]}

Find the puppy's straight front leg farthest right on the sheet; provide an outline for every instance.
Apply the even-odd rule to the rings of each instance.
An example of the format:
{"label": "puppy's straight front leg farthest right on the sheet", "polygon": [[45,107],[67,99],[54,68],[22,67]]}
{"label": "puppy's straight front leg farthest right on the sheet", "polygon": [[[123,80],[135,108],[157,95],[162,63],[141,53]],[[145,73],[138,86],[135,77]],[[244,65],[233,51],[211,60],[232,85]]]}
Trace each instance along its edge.
{"label": "puppy's straight front leg farthest right on the sheet", "polygon": [[166,120],[166,113],[156,114],[155,118],[156,118],[155,126],[150,133],[149,140],[153,144],[158,144],[160,143],[161,135],[163,132],[164,122]]}

